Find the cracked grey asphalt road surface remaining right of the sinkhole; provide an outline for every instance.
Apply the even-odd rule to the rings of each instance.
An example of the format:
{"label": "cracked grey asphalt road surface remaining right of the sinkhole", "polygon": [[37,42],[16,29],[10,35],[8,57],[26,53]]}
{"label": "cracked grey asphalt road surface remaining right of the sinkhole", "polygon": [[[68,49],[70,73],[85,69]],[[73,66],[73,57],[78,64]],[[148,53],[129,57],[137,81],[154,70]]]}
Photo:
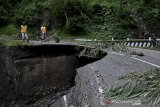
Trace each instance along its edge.
{"label": "cracked grey asphalt road surface remaining right of the sinkhole", "polygon": [[[50,107],[150,107],[141,103],[106,105],[107,99],[104,99],[103,95],[105,88],[114,83],[117,77],[135,71],[145,72],[156,68],[160,68],[160,59],[148,54],[140,57],[109,52],[105,58],[78,68],[76,86],[70,90],[69,94],[57,100]],[[118,81],[118,84],[125,82]]]}

